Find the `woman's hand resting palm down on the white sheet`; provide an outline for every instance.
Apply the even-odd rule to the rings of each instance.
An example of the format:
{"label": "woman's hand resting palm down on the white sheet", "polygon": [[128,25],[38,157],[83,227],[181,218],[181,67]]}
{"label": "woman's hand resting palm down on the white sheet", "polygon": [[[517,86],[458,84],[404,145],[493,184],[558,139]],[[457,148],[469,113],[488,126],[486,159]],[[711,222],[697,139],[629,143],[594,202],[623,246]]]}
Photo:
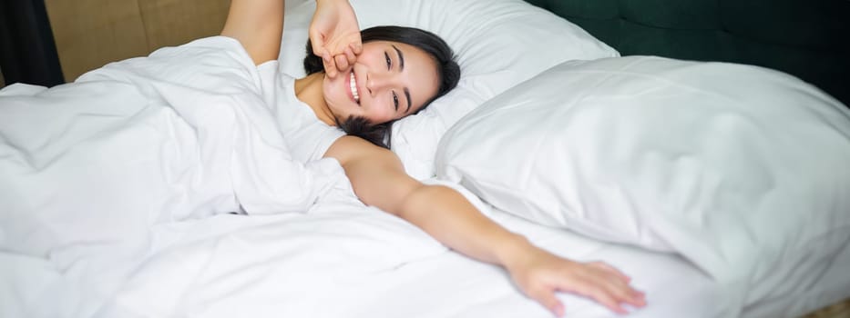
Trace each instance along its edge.
{"label": "woman's hand resting palm down on the white sheet", "polygon": [[564,314],[564,304],[555,297],[558,291],[589,297],[616,313],[627,313],[623,304],[646,304],[630,278],[607,263],[578,263],[532,247],[506,268],[523,293],[558,317]]}

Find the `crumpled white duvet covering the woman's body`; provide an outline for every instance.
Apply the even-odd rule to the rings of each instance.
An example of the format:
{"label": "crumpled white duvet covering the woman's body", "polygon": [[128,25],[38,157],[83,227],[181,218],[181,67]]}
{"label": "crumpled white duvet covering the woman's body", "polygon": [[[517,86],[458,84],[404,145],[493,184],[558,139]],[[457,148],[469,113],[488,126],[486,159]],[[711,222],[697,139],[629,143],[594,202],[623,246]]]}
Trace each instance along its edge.
{"label": "crumpled white duvet covering the woman's body", "polygon": [[0,252],[49,260],[86,282],[69,294],[101,299],[157,246],[159,224],[304,213],[346,191],[335,161],[292,160],[260,87],[241,45],[213,37],[0,91]]}

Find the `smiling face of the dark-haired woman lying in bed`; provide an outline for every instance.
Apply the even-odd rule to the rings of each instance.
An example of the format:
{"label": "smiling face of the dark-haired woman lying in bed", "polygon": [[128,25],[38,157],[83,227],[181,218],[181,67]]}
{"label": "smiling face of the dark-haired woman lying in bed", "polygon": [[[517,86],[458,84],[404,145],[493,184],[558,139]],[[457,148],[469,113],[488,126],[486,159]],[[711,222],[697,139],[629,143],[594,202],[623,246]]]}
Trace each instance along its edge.
{"label": "smiling face of the dark-haired woman lying in bed", "polygon": [[325,76],[325,103],[340,122],[363,116],[383,124],[415,114],[439,88],[437,64],[421,49],[403,43],[373,41],[363,45],[349,74]]}

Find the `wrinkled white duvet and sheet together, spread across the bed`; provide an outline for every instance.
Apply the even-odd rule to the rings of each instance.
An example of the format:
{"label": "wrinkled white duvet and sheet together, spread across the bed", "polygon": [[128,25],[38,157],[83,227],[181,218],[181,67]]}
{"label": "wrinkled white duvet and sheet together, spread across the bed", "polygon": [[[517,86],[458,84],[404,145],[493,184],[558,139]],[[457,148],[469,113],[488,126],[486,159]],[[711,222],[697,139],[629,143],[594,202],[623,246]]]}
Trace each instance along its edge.
{"label": "wrinkled white duvet and sheet together, spread across the bed", "polygon": [[[333,159],[294,160],[261,81],[238,43],[212,37],[49,90],[0,90],[0,317],[550,316],[503,270],[362,204]],[[681,254],[425,182],[553,253],[617,266],[648,295],[633,317],[804,313],[845,296],[846,243],[819,273],[783,276],[817,276],[793,298],[744,306],[746,286]],[[558,296],[568,315],[614,315]]]}

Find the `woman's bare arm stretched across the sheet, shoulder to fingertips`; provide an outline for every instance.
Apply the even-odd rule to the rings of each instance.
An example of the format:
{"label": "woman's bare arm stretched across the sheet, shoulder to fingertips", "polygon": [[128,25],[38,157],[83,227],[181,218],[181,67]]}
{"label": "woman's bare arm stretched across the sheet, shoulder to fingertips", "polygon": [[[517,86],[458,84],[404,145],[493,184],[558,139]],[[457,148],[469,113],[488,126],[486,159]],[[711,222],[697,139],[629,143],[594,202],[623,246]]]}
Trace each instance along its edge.
{"label": "woman's bare arm stretched across the sheet, shoulder to fingertips", "polygon": [[446,246],[505,267],[527,296],[561,315],[556,291],[578,293],[625,313],[624,303],[640,307],[643,293],[605,263],[577,263],[528,243],[487,218],[455,190],[425,185],[405,173],[398,157],[363,139],[344,136],[325,156],[336,158],[364,202],[404,218]]}

